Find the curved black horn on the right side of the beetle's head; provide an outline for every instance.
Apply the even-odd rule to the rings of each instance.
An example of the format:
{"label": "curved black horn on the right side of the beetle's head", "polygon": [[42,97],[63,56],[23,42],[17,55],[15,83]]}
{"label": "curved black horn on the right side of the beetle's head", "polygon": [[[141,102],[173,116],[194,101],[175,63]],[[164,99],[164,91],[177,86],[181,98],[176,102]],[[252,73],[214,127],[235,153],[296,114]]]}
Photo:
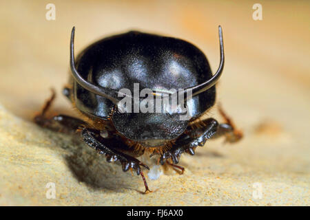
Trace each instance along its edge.
{"label": "curved black horn on the right side of the beetle's head", "polygon": [[[224,68],[224,45],[223,45],[223,33],[222,28],[220,25],[218,26],[218,36],[220,39],[220,66],[218,67],[218,70],[216,71],[216,74],[212,76],[209,80],[205,81],[205,83],[201,83],[200,85],[196,85],[194,87],[188,87],[187,89],[192,89],[192,96],[196,96],[203,91],[206,91],[207,89],[210,89],[213,87],[219,80],[220,76],[222,75],[223,68]],[[184,94],[187,94],[187,89],[184,89]]]}

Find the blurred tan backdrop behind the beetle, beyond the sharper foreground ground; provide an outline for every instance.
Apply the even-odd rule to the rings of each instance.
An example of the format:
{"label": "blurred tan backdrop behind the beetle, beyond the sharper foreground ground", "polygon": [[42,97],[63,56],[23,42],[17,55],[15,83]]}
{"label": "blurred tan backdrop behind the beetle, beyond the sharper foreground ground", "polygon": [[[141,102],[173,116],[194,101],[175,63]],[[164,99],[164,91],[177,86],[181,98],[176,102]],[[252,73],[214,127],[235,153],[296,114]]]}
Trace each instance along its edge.
{"label": "blurred tan backdrop behind the beetle, beyond the sharper foreground ground", "polygon": [[[55,20],[46,19],[48,3],[55,6]],[[254,20],[256,3],[262,20]],[[140,30],[194,43],[214,72],[221,25],[226,60],[217,99],[245,133],[229,157],[254,170],[309,177],[309,6],[262,0],[1,1],[0,103],[31,121],[54,87],[53,109],[73,114],[61,94],[72,26],[76,54],[105,36]],[[216,114],[215,108],[210,115]]]}

